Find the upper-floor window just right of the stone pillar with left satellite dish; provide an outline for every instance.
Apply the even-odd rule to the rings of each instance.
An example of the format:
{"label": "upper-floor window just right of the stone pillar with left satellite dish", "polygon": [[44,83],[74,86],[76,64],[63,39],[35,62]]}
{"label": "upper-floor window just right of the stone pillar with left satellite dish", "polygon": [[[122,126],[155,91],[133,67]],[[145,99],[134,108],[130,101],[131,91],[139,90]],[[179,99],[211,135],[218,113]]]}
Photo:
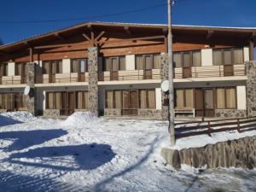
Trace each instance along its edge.
{"label": "upper-floor window just right of the stone pillar with left satellite dish", "polygon": [[62,73],[62,61],[43,61],[44,74]]}

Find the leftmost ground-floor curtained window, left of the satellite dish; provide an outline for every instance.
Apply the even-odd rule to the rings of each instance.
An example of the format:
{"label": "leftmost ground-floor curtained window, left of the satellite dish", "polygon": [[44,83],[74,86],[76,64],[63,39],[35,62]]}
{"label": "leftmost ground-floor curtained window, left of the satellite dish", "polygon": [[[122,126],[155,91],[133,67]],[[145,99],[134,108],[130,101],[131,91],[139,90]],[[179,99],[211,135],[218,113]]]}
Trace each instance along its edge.
{"label": "leftmost ground-floor curtained window, left of the satellite dish", "polygon": [[22,93],[0,93],[0,108],[8,111],[25,108],[25,96]]}

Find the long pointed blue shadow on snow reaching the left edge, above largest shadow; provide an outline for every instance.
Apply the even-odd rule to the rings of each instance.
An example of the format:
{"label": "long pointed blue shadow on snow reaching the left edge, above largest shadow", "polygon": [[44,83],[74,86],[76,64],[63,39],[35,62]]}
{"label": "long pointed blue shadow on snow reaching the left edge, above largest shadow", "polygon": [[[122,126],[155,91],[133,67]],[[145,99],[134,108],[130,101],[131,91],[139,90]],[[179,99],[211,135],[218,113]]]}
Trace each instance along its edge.
{"label": "long pointed blue shadow on snow reaching the left edge, above largest shadow", "polygon": [[67,131],[61,129],[0,132],[0,140],[11,140],[13,142],[8,147],[0,147],[0,149],[5,152],[21,150],[64,135],[67,135]]}

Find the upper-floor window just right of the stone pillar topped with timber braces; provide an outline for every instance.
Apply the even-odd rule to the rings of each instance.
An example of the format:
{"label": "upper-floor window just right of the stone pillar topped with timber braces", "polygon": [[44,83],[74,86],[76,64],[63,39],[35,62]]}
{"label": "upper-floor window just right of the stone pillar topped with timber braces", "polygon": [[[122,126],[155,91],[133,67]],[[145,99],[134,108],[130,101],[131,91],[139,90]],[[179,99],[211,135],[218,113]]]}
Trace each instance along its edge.
{"label": "upper-floor window just right of the stone pillar topped with timber braces", "polygon": [[125,56],[104,57],[104,71],[125,70]]}

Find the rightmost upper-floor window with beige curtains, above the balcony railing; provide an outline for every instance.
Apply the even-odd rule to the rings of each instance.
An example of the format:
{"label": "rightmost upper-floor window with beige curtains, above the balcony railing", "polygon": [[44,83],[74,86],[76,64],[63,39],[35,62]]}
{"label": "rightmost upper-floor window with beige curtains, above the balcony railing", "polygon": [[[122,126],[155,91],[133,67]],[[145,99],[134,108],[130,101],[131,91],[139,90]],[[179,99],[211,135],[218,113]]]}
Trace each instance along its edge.
{"label": "rightmost upper-floor window with beige curtains, above the balcony railing", "polygon": [[243,64],[243,49],[213,49],[212,51],[213,65],[235,65]]}

